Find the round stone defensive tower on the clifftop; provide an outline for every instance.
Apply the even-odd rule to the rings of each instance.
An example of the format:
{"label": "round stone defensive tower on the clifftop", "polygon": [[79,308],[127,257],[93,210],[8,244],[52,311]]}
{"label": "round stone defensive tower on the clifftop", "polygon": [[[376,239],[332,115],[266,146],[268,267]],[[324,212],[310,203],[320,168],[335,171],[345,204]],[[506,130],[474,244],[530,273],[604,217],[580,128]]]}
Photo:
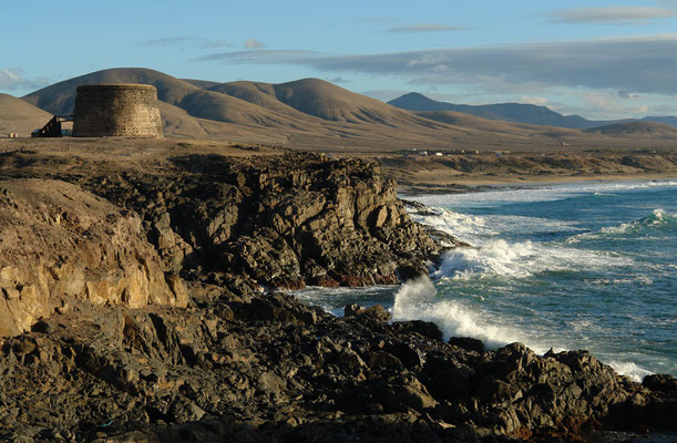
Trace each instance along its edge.
{"label": "round stone defensive tower on the clifftop", "polygon": [[157,90],[147,84],[78,86],[73,136],[162,138]]}

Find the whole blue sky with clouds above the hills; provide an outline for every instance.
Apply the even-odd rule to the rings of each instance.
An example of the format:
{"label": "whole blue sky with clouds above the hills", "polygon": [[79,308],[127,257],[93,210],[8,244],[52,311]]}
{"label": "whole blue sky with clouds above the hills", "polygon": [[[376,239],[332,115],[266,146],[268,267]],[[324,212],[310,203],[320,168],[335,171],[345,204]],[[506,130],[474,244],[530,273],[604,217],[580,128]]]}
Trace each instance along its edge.
{"label": "whole blue sky with clouds above the hills", "polygon": [[677,0],[0,0],[0,92],[109,68],[269,83],[319,78],[379,100],[677,115]]}

